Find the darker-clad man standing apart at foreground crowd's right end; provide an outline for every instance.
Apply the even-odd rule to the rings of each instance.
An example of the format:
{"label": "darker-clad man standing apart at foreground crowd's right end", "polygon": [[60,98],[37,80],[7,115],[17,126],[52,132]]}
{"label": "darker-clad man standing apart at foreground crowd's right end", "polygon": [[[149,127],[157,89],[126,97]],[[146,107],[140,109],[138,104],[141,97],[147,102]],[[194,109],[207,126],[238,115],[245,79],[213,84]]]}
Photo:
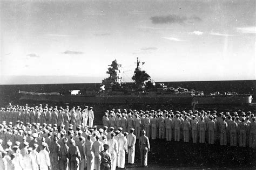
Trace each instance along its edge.
{"label": "darker-clad man standing apart at foreground crowd's right end", "polygon": [[145,130],[142,130],[142,136],[139,138],[139,149],[141,165],[147,167],[147,152],[150,152],[150,143]]}

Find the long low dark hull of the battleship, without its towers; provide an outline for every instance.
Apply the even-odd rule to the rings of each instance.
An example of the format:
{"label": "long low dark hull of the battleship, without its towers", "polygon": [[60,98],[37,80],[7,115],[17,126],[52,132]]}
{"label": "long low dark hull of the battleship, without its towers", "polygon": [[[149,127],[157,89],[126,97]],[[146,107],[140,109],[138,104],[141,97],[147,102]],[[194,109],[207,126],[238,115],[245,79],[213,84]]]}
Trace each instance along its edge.
{"label": "long low dark hull of the battleship, without its towers", "polygon": [[190,94],[96,94],[61,95],[19,91],[20,100],[59,103],[109,103],[109,104],[250,104],[252,95],[192,96]]}

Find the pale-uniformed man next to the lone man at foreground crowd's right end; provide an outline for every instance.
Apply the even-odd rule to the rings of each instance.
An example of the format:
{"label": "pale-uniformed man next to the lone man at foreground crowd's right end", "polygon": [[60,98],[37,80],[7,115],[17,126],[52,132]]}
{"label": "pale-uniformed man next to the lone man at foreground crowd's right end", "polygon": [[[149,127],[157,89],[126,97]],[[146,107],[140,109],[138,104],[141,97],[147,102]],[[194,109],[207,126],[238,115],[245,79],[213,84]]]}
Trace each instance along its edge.
{"label": "pale-uniformed man next to the lone man at foreground crowd's right end", "polygon": [[134,164],[135,157],[135,144],[136,136],[133,134],[134,129],[130,129],[130,133],[127,135],[127,147],[128,147],[128,163]]}

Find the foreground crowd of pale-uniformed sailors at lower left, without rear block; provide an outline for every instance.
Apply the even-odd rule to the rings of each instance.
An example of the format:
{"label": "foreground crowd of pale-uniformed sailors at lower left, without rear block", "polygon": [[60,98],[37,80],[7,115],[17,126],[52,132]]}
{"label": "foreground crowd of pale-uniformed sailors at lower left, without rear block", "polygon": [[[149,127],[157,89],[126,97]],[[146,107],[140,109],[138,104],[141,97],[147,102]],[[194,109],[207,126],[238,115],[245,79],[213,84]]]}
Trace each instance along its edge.
{"label": "foreground crowd of pale-uniformed sailors at lower left, without rear block", "polygon": [[[100,169],[100,152],[103,152],[104,144],[109,145],[111,169],[124,168],[128,151],[129,163],[134,164],[134,129],[130,134],[122,133],[122,128],[114,133],[113,127],[109,131],[107,127],[97,130],[97,126],[88,129],[81,125],[77,131],[72,129],[72,125],[68,132],[62,126],[56,130],[55,126],[52,129],[48,125],[41,130],[31,128],[22,132],[20,129],[19,134],[15,134],[14,127],[8,133],[1,131],[0,169]],[[8,134],[14,136],[14,140],[7,140]],[[22,141],[16,136],[20,136]]]}

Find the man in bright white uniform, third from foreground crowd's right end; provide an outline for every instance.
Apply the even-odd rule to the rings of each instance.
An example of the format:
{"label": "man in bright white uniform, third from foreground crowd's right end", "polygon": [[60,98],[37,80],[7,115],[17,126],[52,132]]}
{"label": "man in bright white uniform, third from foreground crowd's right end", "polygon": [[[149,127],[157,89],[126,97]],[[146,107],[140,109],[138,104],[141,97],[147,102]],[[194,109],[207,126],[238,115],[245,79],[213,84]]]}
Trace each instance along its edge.
{"label": "man in bright white uniform, third from foreground crowd's right end", "polygon": [[121,136],[118,140],[118,145],[119,145],[118,168],[125,168],[125,154],[128,153],[127,139],[126,139],[127,134],[128,134],[127,132],[124,132],[124,136]]}

